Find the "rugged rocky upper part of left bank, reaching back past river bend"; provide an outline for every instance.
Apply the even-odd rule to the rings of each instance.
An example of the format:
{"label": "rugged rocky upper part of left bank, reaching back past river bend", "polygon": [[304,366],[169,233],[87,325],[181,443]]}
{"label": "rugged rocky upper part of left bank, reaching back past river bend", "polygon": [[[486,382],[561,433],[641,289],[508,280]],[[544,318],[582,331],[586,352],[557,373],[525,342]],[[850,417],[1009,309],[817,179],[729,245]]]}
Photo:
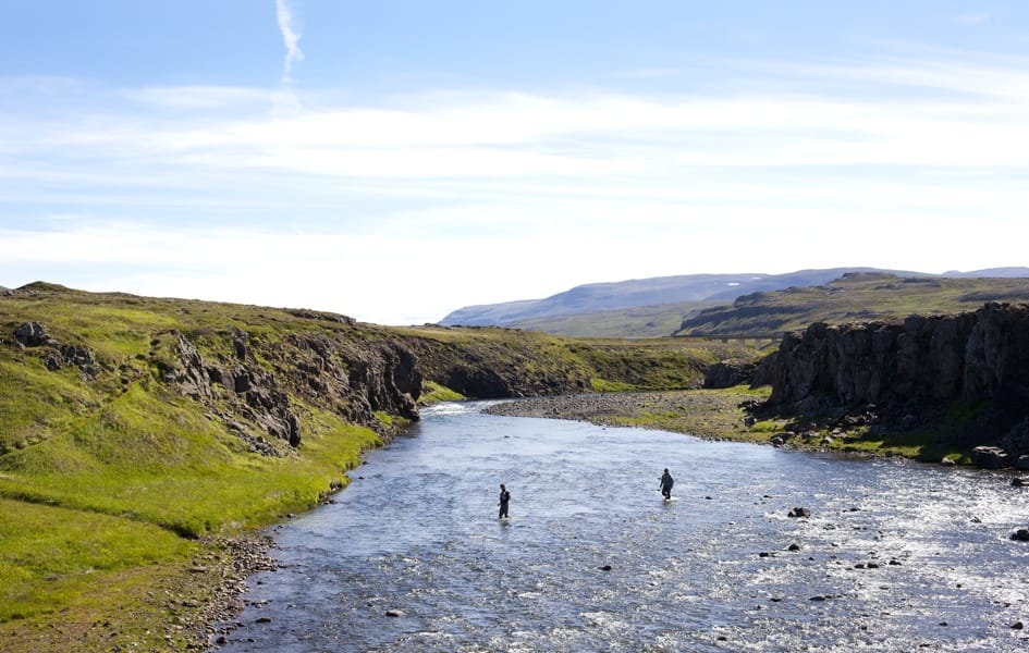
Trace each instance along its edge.
{"label": "rugged rocky upper part of left bank, reaching back past river bend", "polygon": [[[696,348],[687,342],[590,343],[507,329],[388,328],[307,309],[86,293],[46,283],[13,291],[2,304],[0,370],[22,381],[0,383],[0,409],[16,418],[0,430],[0,455],[61,432],[49,424],[87,415],[100,415],[102,422],[103,410],[128,393],[166,403],[188,397],[176,404],[179,422],[193,416],[252,452],[292,456],[307,434],[323,430],[328,416],[389,436],[418,419],[424,392],[498,398],[693,387],[713,360],[746,356],[739,347]],[[38,375],[37,369],[50,373]],[[20,394],[60,401],[20,402]]]}

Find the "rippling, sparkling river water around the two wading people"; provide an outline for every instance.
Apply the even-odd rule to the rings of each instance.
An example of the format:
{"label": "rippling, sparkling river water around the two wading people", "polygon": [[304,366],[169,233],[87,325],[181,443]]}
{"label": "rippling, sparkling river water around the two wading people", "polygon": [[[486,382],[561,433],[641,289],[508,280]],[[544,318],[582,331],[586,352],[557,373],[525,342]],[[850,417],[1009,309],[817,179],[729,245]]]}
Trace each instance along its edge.
{"label": "rippling, sparkling river water around the two wading people", "polygon": [[481,407],[424,410],[278,527],[217,651],[1029,651],[1009,473]]}

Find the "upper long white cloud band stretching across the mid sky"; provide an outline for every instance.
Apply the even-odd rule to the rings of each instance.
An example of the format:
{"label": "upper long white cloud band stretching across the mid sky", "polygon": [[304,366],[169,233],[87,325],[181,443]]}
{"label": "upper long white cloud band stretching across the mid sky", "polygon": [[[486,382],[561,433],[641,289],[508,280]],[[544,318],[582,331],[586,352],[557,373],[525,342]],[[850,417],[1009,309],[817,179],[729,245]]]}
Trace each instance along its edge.
{"label": "upper long white cloud band stretching across the mid sky", "polygon": [[[1026,84],[1010,74],[1008,84]],[[187,106],[268,96],[189,89]],[[172,93],[148,89],[144,97]],[[159,100],[160,101],[160,100]],[[442,103],[445,101],[446,103]],[[167,106],[167,104],[166,104]],[[268,169],[355,178],[661,176],[685,168],[890,165],[1004,168],[1029,163],[1025,99],[936,103],[803,96],[577,98],[513,95],[407,99],[394,108],[293,116],[206,114],[200,122],[112,115],[12,126],[4,148],[84,158]],[[29,119],[30,121],[30,119]]]}

